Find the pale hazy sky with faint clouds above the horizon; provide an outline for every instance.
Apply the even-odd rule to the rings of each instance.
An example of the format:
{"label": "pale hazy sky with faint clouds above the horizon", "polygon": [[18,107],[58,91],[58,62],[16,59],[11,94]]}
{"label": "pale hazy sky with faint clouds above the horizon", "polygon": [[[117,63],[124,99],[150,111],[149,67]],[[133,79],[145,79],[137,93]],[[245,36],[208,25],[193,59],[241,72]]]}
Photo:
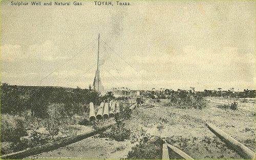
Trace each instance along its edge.
{"label": "pale hazy sky with faint clouds above the horizon", "polygon": [[1,3],[2,83],[88,88],[100,33],[105,88],[255,89],[253,1],[10,2]]}

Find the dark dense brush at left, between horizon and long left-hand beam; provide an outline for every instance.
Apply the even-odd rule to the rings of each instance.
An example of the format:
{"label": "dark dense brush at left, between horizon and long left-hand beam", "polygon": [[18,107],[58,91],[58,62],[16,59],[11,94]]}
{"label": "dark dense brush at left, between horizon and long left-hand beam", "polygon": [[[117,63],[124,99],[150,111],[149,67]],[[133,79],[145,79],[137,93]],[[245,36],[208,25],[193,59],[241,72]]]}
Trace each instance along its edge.
{"label": "dark dense brush at left, between horizon and long left-hand beam", "polygon": [[[101,101],[114,98],[112,92],[101,96],[79,87],[29,87],[5,83],[0,87],[2,154],[74,136],[77,130],[69,126],[78,123],[76,117],[88,114],[90,102],[99,105]],[[80,123],[87,122],[81,120]],[[40,132],[40,128],[45,132]]]}

